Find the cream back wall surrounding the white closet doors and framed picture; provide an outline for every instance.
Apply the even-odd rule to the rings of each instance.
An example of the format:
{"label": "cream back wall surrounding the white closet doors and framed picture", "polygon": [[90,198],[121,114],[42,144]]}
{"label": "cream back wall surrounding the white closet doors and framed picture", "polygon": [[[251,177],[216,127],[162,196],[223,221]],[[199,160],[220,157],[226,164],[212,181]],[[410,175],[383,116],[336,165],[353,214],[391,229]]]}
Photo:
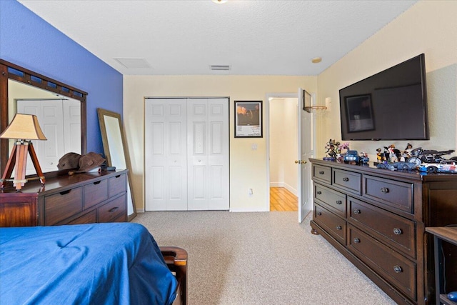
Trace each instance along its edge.
{"label": "cream back wall surrounding the white closet doors and framed picture", "polygon": [[[265,104],[267,93],[316,92],[316,76],[124,76],[124,125],[136,208],[144,209],[144,97],[230,97],[230,209],[268,211],[266,138],[234,138],[233,102]],[[266,111],[263,111],[263,122]],[[263,133],[265,133],[263,126]],[[251,145],[256,144],[257,150]],[[248,196],[253,189],[253,196]]]}

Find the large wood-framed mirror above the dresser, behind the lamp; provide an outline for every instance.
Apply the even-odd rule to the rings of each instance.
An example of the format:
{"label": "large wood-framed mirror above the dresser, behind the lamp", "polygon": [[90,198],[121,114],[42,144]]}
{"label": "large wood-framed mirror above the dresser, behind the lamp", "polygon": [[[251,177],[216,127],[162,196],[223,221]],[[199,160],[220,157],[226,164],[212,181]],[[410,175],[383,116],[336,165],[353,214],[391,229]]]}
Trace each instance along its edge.
{"label": "large wood-framed mirror above the dresser, behind the lamp", "polygon": [[[57,176],[57,164],[68,152],[86,154],[87,93],[0,59],[0,132],[16,113],[35,114],[48,141],[34,143],[45,176]],[[46,118],[46,119],[45,119]],[[14,140],[0,141],[4,171]],[[27,166],[34,175],[34,166]]]}

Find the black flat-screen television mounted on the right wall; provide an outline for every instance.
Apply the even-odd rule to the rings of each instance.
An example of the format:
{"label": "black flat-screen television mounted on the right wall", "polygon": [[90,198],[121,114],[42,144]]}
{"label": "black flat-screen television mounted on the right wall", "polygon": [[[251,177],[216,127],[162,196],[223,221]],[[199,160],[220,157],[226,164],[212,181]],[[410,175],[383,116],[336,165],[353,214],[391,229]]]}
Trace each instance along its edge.
{"label": "black flat-screen television mounted on the right wall", "polygon": [[430,139],[424,54],[339,93],[343,141]]}

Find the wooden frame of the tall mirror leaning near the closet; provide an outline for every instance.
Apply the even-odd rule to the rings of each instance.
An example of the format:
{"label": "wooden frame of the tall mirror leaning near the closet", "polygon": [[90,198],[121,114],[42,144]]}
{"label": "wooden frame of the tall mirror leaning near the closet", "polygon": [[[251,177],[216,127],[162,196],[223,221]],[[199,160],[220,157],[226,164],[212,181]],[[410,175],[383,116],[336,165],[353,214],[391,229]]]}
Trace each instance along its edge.
{"label": "wooden frame of the tall mirror leaning near the closet", "polygon": [[[135,199],[134,199],[134,192],[131,189],[131,162],[130,162],[130,155],[129,155],[129,149],[127,148],[127,141],[124,136],[124,128],[122,126],[122,119],[121,119],[121,114],[118,114],[113,111],[109,111],[106,109],[101,109],[97,108],[97,114],[99,116],[99,123],[100,123],[100,131],[101,131],[101,140],[103,141],[103,149],[105,152],[105,158],[106,162],[108,163],[108,166],[116,166],[116,164],[113,164],[111,161],[111,150],[110,150],[110,145],[108,141],[108,134],[106,134],[106,123],[105,123],[105,116],[109,116],[111,118],[114,118],[118,121],[119,123],[119,131],[120,131],[120,136],[121,136],[121,141],[122,141],[122,151],[124,153],[124,159],[126,163],[126,168],[129,170],[127,171],[127,178],[128,178],[128,184],[127,187],[129,188],[130,191],[130,199],[131,203],[133,206],[134,212],[130,215],[127,215],[127,220],[131,221],[132,219],[135,218],[136,216],[136,205],[135,205]],[[114,148],[115,149],[115,148]]]}

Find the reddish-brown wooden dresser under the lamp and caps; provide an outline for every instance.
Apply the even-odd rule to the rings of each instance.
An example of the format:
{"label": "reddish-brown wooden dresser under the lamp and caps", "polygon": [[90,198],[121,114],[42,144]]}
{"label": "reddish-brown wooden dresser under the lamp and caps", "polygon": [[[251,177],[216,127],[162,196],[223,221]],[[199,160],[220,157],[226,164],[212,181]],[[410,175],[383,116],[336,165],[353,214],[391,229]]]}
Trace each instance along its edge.
{"label": "reddish-brown wooden dresser under the lamp and caps", "polygon": [[0,226],[127,221],[127,171],[58,176],[0,193]]}

